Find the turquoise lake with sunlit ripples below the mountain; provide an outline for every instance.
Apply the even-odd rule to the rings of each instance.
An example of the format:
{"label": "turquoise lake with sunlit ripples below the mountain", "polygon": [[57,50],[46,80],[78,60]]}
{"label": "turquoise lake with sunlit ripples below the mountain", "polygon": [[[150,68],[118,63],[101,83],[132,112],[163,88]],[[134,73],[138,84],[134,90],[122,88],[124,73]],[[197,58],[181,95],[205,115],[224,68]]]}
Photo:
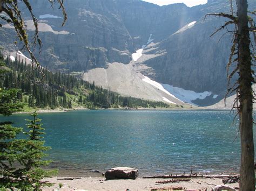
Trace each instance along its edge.
{"label": "turquoise lake with sunlit ripples below the mountain", "polygon": [[[0,117],[25,126],[26,114]],[[117,166],[142,175],[239,171],[240,139],[230,111],[84,110],[40,114],[60,175]],[[254,135],[255,137],[255,135]]]}

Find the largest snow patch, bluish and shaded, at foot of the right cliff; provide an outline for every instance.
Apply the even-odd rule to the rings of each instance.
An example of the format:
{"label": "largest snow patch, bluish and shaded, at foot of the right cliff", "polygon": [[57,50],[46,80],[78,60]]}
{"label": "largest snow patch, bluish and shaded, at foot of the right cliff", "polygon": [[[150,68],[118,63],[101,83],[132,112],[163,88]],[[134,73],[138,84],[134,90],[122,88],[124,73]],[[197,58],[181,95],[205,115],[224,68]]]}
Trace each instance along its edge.
{"label": "largest snow patch, bluish and shaded, at foot of the right cliff", "polygon": [[200,99],[204,100],[207,96],[210,96],[212,93],[210,91],[204,91],[203,93],[197,93],[192,90],[185,90],[183,88],[173,87],[169,84],[161,84],[165,90],[167,90],[170,94],[177,97],[179,100],[193,104],[192,101]]}

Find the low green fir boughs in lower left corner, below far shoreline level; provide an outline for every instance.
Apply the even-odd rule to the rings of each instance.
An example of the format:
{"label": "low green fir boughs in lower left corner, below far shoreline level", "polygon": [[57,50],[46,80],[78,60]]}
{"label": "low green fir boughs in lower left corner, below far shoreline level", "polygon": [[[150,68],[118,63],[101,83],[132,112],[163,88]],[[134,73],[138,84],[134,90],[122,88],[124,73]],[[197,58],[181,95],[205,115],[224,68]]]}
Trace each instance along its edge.
{"label": "low green fir boughs in lower left corner, below far shoreline level", "polygon": [[[17,139],[16,136],[22,128],[14,128],[10,124],[0,126],[0,188],[17,188],[22,190],[40,190],[41,187],[51,186],[49,182],[41,181],[57,173],[56,170],[45,171],[42,166],[49,165],[50,161],[42,160],[44,151],[50,147],[44,146],[42,140],[44,128],[37,113],[30,114],[32,119],[26,126],[29,131],[24,132],[27,139]],[[2,136],[3,135],[3,136]]]}

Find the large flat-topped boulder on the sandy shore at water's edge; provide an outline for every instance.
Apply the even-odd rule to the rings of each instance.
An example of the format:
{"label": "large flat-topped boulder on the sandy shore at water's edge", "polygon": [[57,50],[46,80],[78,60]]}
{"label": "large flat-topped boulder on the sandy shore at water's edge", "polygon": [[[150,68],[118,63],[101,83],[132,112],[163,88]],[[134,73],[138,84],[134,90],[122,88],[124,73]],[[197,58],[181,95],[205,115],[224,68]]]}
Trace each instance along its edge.
{"label": "large flat-topped boulder on the sandy shore at water's edge", "polygon": [[129,167],[116,167],[106,171],[106,180],[113,179],[136,179],[139,175],[138,169]]}

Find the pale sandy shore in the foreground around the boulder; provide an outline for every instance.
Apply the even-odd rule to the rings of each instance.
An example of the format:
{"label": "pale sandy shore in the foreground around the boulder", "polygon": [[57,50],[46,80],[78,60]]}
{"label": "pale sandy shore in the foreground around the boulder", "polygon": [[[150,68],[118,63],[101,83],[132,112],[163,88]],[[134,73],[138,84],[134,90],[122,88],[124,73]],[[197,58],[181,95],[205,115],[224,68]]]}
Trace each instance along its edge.
{"label": "pale sandy shore in the foreground around the boulder", "polygon": [[[212,190],[215,185],[223,185],[222,180],[219,178],[192,178],[189,181],[173,182],[173,183],[157,183],[157,181],[166,181],[171,179],[143,179],[137,178],[135,180],[131,179],[119,179],[119,180],[105,180],[104,177],[79,177],[72,178],[66,177],[53,177],[46,178],[43,181],[49,181],[55,183],[52,187],[45,187],[43,190],[152,190],[160,188],[177,188],[183,187],[182,190]],[[72,180],[73,179],[73,180]],[[239,183],[226,184],[231,187],[239,187]],[[60,188],[61,187],[61,188]]]}

